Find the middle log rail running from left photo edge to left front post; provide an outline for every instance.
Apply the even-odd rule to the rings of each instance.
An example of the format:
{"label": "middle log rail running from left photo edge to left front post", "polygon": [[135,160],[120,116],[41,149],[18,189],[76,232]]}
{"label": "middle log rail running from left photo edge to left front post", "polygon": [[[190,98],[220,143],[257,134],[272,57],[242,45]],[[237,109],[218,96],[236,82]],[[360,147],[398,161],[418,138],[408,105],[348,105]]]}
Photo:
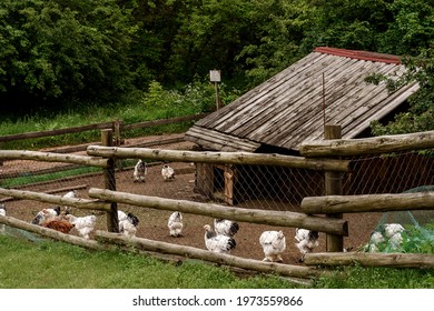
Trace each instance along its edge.
{"label": "middle log rail running from left photo edge to left front post", "polygon": [[100,200],[89,200],[83,198],[63,198],[61,195],[4,188],[0,188],[0,195],[13,197],[22,200],[47,202],[51,204],[76,207],[78,209],[110,211],[110,203],[101,202]]}

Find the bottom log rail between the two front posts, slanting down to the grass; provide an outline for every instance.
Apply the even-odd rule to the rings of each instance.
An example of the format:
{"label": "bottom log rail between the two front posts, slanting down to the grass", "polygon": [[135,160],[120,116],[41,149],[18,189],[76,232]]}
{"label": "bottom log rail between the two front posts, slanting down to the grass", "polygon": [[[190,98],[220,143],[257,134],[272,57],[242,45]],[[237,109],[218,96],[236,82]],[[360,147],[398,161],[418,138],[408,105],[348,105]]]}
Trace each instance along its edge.
{"label": "bottom log rail between the two front posts, slanting down to the grass", "polygon": [[208,250],[203,250],[198,248],[178,245],[167,242],[159,242],[142,238],[127,238],[119,233],[110,233],[107,231],[96,231],[95,233],[97,240],[102,242],[115,243],[119,245],[135,247],[139,250],[168,253],[175,255],[181,255],[193,259],[200,259],[205,261],[216,262],[219,264],[227,264],[230,267],[237,267],[247,270],[255,270],[259,272],[277,273],[286,277],[297,277],[297,278],[313,278],[319,277],[320,274],[327,273],[327,271],[315,270],[310,267],[302,265],[292,265],[283,264],[275,262],[263,262],[253,259],[245,259],[240,257],[235,257],[231,254],[225,253],[215,253]]}

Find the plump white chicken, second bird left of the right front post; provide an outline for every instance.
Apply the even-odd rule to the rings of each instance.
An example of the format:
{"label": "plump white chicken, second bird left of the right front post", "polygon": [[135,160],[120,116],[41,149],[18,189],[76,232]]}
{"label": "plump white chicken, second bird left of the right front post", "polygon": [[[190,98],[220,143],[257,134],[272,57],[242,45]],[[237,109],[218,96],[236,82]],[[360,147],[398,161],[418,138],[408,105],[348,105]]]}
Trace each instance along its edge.
{"label": "plump white chicken, second bird left of the right front post", "polygon": [[285,234],[282,231],[264,231],[259,237],[265,258],[263,261],[284,262],[282,254],[286,249]]}

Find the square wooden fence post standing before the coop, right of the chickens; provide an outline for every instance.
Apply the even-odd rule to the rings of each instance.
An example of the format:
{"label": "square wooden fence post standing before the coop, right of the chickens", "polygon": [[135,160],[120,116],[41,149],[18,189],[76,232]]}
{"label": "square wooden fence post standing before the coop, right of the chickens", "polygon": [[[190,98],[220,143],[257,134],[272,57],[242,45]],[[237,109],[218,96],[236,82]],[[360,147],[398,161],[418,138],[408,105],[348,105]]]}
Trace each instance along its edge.
{"label": "square wooden fence post standing before the coop, right of the chickens", "polygon": [[[341,139],[341,126],[324,126],[324,139]],[[325,172],[325,194],[342,195],[342,172],[326,171]],[[342,213],[326,214],[327,218],[342,219]],[[342,252],[344,249],[344,238],[342,235],[326,235],[327,252]]]}

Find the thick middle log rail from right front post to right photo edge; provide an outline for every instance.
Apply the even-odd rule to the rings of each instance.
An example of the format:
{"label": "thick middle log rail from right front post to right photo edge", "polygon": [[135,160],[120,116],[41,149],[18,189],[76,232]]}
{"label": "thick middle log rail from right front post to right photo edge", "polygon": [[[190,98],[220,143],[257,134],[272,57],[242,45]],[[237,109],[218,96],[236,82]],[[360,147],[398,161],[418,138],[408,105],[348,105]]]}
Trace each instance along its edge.
{"label": "thick middle log rail from right front post to right photo edge", "polygon": [[434,191],[308,197],[303,199],[300,208],[309,214],[434,210]]}

